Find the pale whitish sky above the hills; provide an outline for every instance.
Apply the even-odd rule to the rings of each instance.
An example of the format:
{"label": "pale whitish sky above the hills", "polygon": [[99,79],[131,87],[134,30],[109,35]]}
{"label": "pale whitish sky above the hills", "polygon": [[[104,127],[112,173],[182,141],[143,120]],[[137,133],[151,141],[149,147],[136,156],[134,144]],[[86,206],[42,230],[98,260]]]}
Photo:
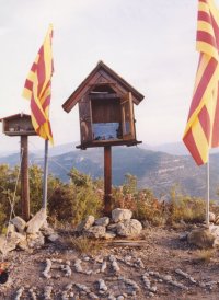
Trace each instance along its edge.
{"label": "pale whitish sky above the hills", "polygon": [[[138,140],[149,146],[182,141],[198,61],[197,2],[0,0],[0,118],[31,113],[21,94],[51,23],[55,145],[80,140],[78,106],[66,113],[61,105],[100,60],[145,95],[135,106]],[[19,150],[19,138],[1,131],[0,152]],[[44,141],[31,137],[30,142],[41,148]]]}

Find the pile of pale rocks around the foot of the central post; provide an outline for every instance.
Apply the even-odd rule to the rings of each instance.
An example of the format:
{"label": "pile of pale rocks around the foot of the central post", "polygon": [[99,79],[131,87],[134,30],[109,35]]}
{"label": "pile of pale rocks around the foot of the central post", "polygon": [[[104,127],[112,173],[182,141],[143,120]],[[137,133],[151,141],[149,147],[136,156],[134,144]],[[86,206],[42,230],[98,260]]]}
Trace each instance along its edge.
{"label": "pile of pale rocks around the foot of the central post", "polygon": [[120,208],[112,211],[112,218],[95,219],[93,216],[88,216],[77,227],[76,232],[92,239],[137,238],[141,233],[142,226],[131,217],[132,212],[129,209]]}

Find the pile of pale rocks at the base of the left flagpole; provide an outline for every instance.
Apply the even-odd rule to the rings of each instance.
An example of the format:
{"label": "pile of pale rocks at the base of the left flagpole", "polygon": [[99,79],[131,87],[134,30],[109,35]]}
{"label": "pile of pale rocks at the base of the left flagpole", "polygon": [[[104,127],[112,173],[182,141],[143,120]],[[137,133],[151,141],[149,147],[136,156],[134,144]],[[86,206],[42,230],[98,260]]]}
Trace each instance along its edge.
{"label": "pile of pale rocks at the base of the left flagpole", "polygon": [[46,209],[42,208],[28,222],[15,217],[11,220],[8,234],[0,235],[0,252],[5,254],[16,247],[21,250],[37,249],[44,245],[45,238],[55,242],[58,234],[46,221]]}

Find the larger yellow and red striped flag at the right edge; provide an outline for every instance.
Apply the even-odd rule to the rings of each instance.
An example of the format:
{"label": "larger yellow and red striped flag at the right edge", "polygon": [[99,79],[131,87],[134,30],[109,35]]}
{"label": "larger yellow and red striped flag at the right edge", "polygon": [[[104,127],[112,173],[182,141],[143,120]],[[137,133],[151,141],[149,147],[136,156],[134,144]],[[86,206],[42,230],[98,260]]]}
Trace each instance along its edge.
{"label": "larger yellow and red striped flag at the right edge", "polygon": [[219,146],[219,11],[199,0],[196,49],[199,64],[183,141],[198,165]]}

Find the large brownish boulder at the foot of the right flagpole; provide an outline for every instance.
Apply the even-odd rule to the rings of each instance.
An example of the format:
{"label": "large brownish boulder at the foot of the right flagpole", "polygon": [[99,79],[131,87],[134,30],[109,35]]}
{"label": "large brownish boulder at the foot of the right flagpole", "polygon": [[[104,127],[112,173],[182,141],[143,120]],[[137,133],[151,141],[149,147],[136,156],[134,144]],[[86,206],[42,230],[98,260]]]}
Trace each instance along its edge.
{"label": "large brownish boulder at the foot of the right flagpole", "polygon": [[216,235],[208,228],[195,229],[187,235],[187,241],[201,249],[212,247]]}

